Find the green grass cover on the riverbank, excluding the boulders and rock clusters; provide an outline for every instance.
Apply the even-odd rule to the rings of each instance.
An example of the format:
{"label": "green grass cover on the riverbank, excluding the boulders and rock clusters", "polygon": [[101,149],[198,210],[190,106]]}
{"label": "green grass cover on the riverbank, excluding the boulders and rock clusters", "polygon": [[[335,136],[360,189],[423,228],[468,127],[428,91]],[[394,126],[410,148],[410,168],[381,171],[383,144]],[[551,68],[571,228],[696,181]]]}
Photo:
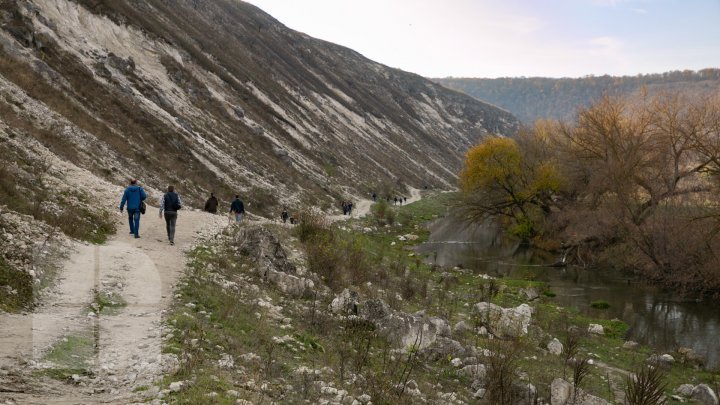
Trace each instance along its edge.
{"label": "green grass cover on the riverbank, excluding the boulders and rock clusters", "polygon": [[[392,226],[380,227],[376,219],[369,218],[333,228],[334,240],[342,241],[335,247],[347,247],[351,242],[365,254],[362,266],[368,274],[353,289],[365,297],[383,298],[396,309],[413,312],[422,308],[430,315],[447,318],[451,325],[465,320],[477,326],[478,320],[470,313],[475,303],[488,300],[505,307],[515,306],[524,302],[520,288],[538,288],[545,294],[531,304],[535,314],[527,337],[514,343],[488,340],[473,332],[455,334],[453,338],[512,356],[513,369],[526,373],[526,380],[545,398],[549,398],[552,379],[569,380],[572,370],[565,365],[563,356],[552,356],[539,348],[545,347],[553,336],[565,340],[566,330],[571,326],[585,330],[589,323],[599,323],[606,330],[603,337],[581,338],[578,356],[623,370],[634,369],[649,356],[651,350],[646,347],[620,349],[627,325],[617,320],[589,319],[572,308],[560,308],[542,283],[484,280],[462,269],[433,268],[419,260],[408,247],[427,238],[422,224],[442,214],[451,199],[451,194],[433,194],[398,207]],[[397,225],[397,221],[402,225]],[[294,236],[297,228],[293,233],[287,228],[270,227],[286,250],[302,250],[303,245]],[[399,235],[408,233],[418,235],[418,240],[398,240]],[[234,403],[237,397],[253,402],[316,402],[332,399],[337,390],[344,389],[355,397],[366,393],[375,403],[412,403],[408,390],[400,392],[395,385],[414,380],[431,400],[437,399],[436,393],[456,393],[459,399],[472,401],[473,391],[468,388],[471,381],[451,366],[451,359],[418,358],[413,350],[390,347],[371,325],[327,316],[325,308],[334,297],[332,293],[319,292],[303,299],[283,296],[258,279],[237,246],[230,243],[232,240],[232,235],[226,235],[190,253],[190,268],[168,318],[175,332],[167,339],[165,348],[183,361],[177,372],[168,375],[160,385],[165,388],[173,381],[191,383],[171,393],[173,400],[197,403],[207,401],[208,394],[214,392],[210,395],[216,403]],[[336,250],[352,253],[353,260],[359,263],[353,249]],[[333,260],[330,264],[335,266],[334,276],[345,277],[341,272],[352,266],[338,264],[342,258],[336,256]],[[305,265],[302,257],[296,261]],[[452,282],[447,281],[448,277],[441,281],[444,271],[454,276],[450,278]],[[231,280],[236,287],[219,288],[219,280]],[[336,291],[344,287],[333,283],[331,286]],[[268,303],[282,307],[281,314],[273,315],[277,311],[268,310]],[[219,363],[228,354],[234,359],[233,368]],[[718,374],[676,364],[667,381],[669,389],[687,382],[705,382],[717,388]],[[592,366],[581,386],[612,399],[612,391],[622,391],[625,384],[623,374]]]}

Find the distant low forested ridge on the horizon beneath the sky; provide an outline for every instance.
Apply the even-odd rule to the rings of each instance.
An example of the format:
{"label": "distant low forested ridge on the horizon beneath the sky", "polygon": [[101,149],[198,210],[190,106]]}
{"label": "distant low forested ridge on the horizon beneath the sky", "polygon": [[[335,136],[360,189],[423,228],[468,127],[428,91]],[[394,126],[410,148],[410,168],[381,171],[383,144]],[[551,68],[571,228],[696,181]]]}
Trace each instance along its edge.
{"label": "distant low forested ridge on the horizon beneath the sky", "polygon": [[581,107],[603,95],[627,95],[641,88],[648,91],[675,91],[706,95],[720,92],[720,69],[683,70],[637,76],[586,76],[551,79],[519,78],[443,78],[433,79],[448,88],[495,104],[526,124],[538,118],[572,120]]}

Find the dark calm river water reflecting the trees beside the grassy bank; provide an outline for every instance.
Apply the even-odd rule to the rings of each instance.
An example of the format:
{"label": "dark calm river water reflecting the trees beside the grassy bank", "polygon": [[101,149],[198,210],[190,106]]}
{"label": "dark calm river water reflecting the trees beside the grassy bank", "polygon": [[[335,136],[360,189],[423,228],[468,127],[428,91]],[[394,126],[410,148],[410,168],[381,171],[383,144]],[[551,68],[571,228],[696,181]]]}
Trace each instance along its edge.
{"label": "dark calm river water reflecting the trees beside the grassy bank", "polygon": [[[430,239],[418,248],[430,262],[462,266],[477,273],[546,282],[555,302],[581,313],[622,319],[630,325],[627,339],[673,353],[692,348],[708,368],[720,367],[720,302],[688,301],[672,292],[602,268],[549,267],[559,260],[507,238],[491,223],[464,225],[453,217],[430,224]],[[604,300],[608,309],[590,307]]]}

